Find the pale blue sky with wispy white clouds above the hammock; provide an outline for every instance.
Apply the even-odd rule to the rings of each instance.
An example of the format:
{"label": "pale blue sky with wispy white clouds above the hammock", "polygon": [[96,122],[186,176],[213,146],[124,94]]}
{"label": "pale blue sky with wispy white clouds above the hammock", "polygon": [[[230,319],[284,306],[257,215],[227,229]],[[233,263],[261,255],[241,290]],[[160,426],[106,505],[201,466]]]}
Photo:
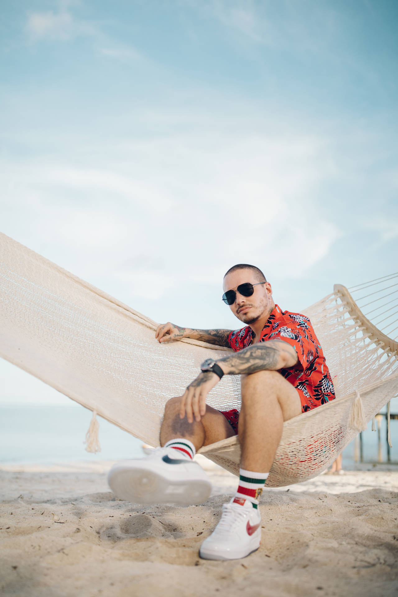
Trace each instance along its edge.
{"label": "pale blue sky with wispy white clouds above the hammock", "polygon": [[4,3],[0,230],[187,327],[240,327],[235,263],[291,311],[396,272],[397,25],[394,0]]}

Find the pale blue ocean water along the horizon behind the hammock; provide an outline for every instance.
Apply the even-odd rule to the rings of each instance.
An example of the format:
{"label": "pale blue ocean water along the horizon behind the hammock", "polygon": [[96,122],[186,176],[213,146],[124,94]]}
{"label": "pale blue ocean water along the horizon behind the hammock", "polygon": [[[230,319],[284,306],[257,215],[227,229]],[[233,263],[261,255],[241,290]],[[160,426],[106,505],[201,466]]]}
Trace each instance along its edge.
{"label": "pale blue ocean water along the horizon behind the hammock", "polygon": [[[382,409],[385,411],[385,408]],[[398,413],[398,400],[391,401],[391,413]],[[53,463],[71,460],[119,460],[143,456],[142,441],[98,417],[101,451],[85,451],[84,439],[91,412],[78,404],[0,404],[0,462]],[[387,423],[381,424],[382,460],[387,461]],[[363,432],[365,462],[378,461],[378,434]],[[391,460],[398,464],[398,420],[391,420]],[[354,442],[345,448],[343,466],[354,464]]]}

